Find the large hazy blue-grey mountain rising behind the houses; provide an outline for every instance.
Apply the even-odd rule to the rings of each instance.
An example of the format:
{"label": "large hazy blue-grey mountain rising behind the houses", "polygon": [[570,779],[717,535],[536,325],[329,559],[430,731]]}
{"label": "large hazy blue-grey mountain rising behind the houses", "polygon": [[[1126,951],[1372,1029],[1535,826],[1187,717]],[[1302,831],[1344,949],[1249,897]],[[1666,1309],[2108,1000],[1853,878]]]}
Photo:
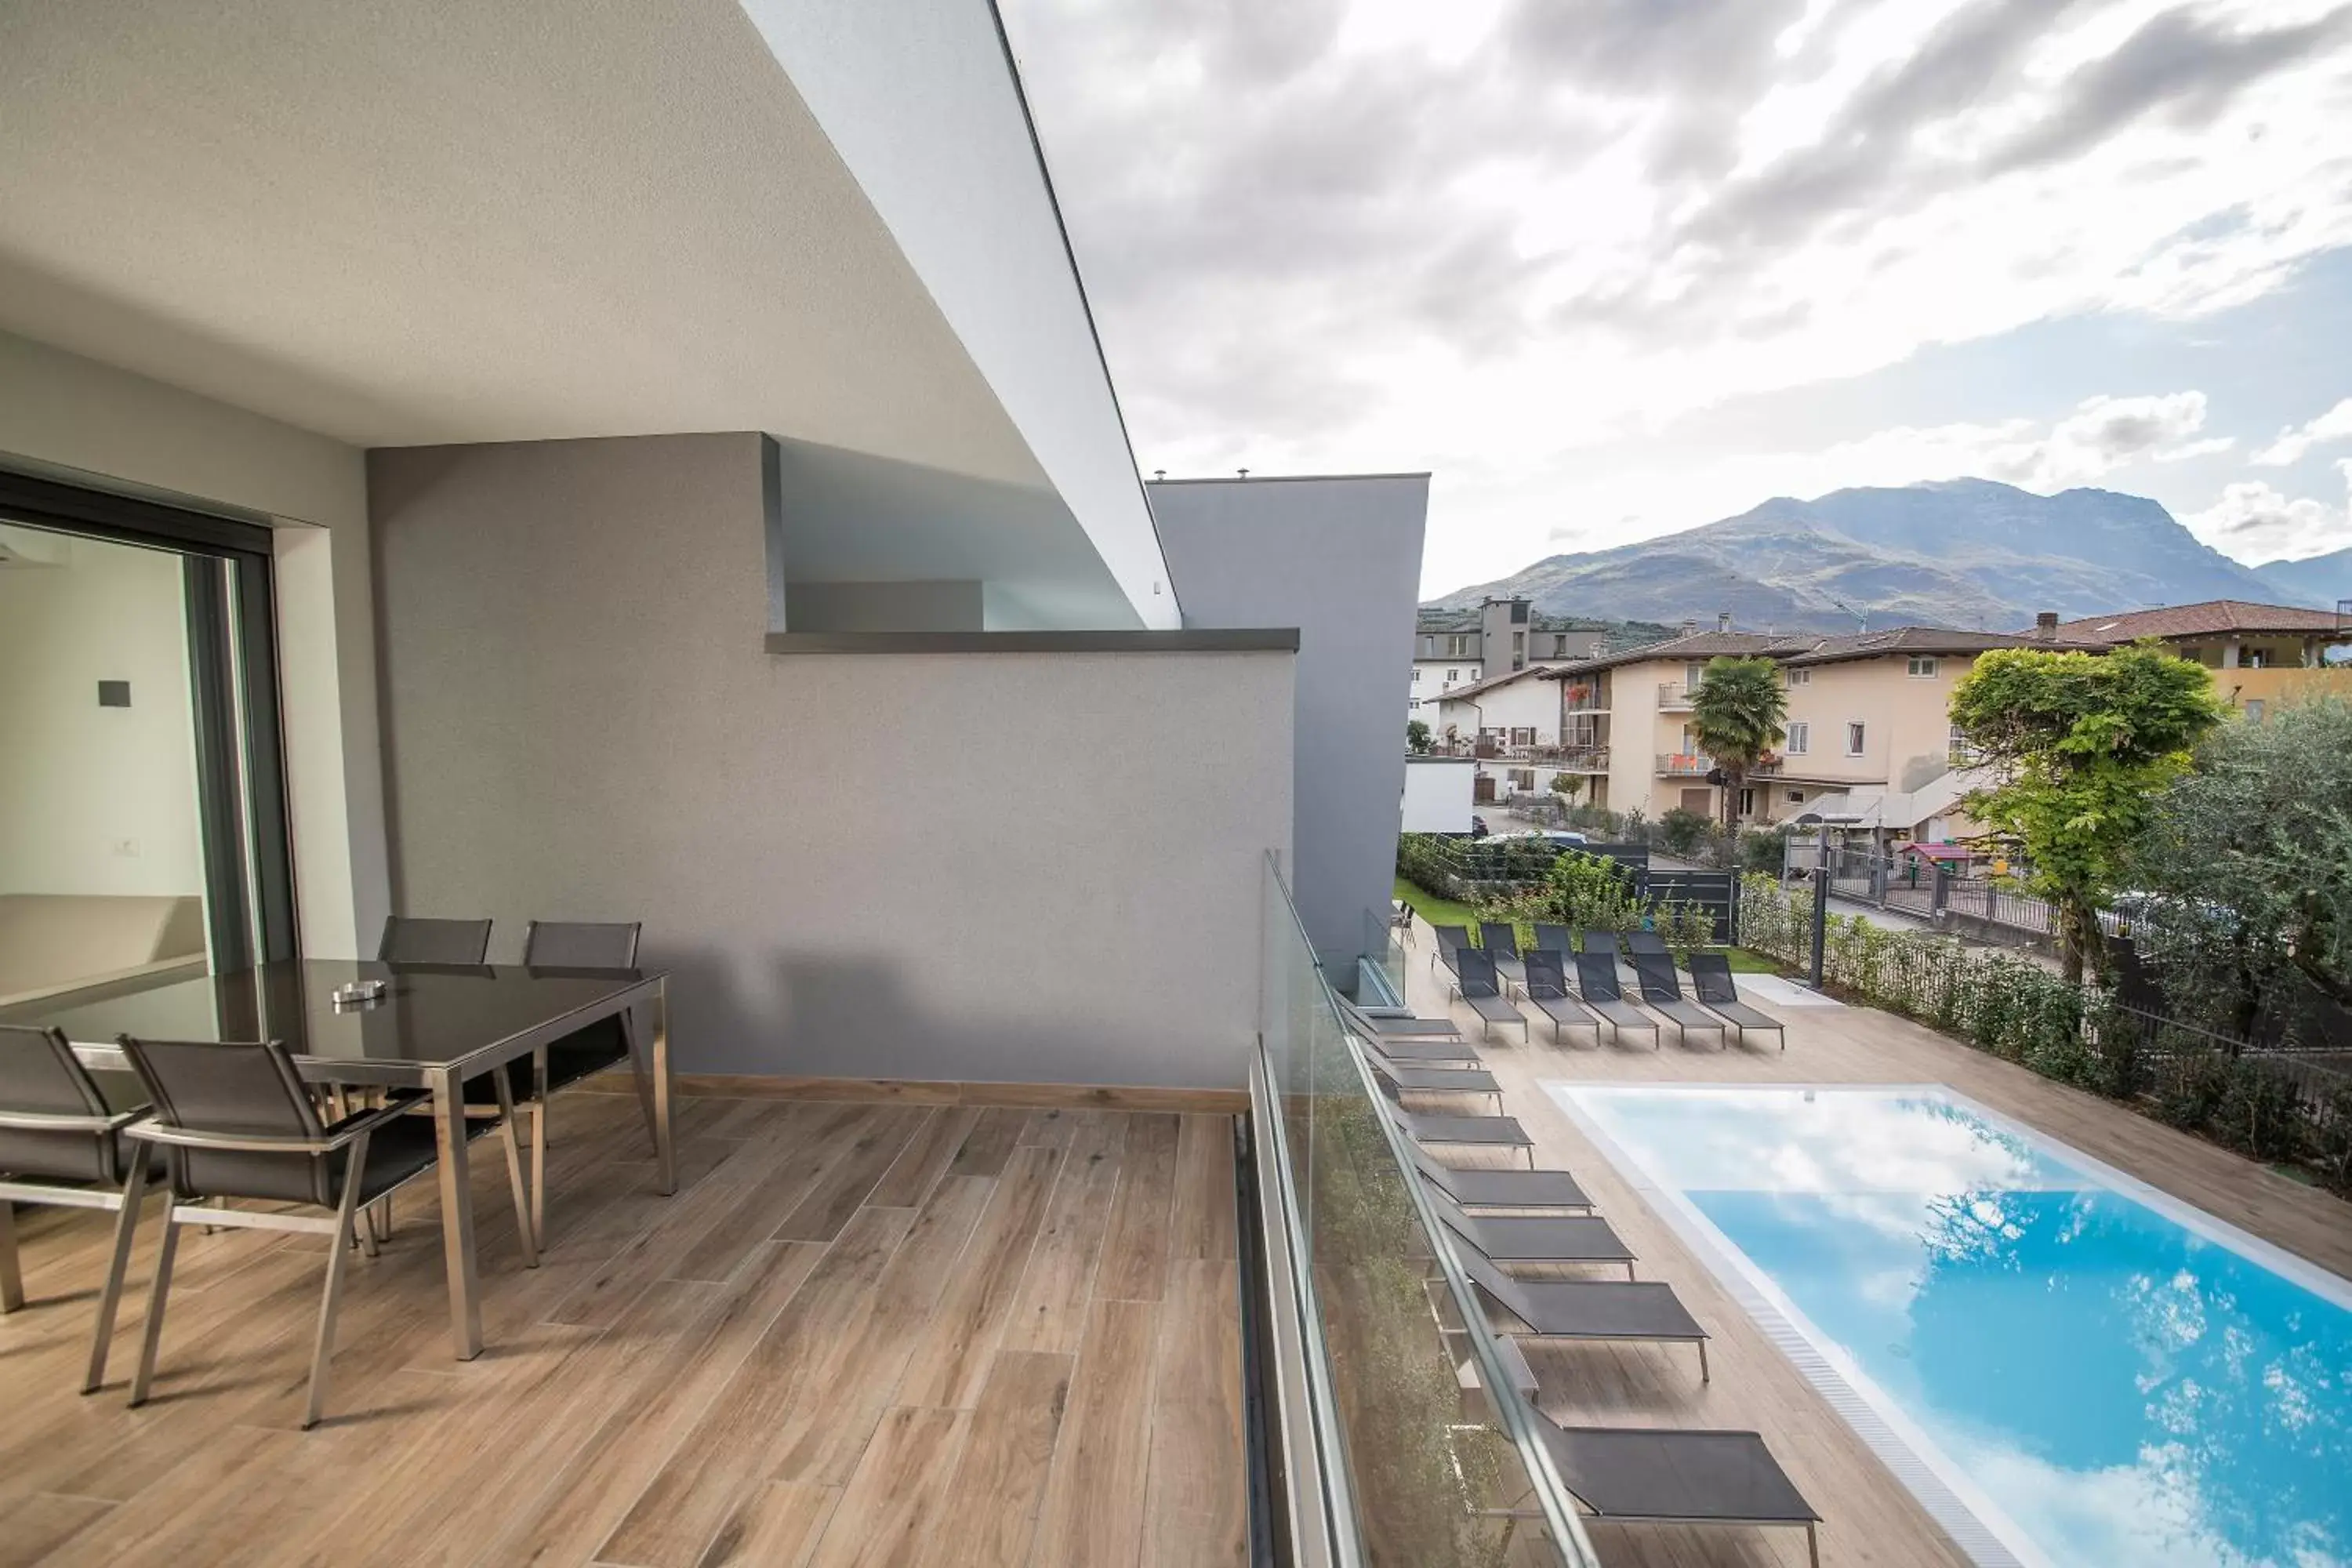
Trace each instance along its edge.
{"label": "large hazy blue-grey mountain rising behind the houses", "polygon": [[[2300,564],[2300,562],[2298,562]],[[1679,623],[1731,611],[1740,628],[1872,625],[2018,630],[2199,599],[2277,602],[2281,588],[2204,545],[2145,496],[2034,496],[1992,480],[1773,496],[1698,529],[1616,550],[1552,555],[1496,583],[1430,599],[1526,597],[1559,616]],[[2317,604],[2298,592],[2293,602]]]}

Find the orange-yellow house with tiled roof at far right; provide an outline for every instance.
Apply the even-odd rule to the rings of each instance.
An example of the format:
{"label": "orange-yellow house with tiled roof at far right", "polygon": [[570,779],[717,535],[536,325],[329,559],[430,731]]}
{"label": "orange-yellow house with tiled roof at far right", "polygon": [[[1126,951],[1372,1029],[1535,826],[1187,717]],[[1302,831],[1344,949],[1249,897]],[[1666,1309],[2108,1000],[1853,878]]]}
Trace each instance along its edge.
{"label": "orange-yellow house with tiled roof at far right", "polygon": [[2082,621],[2044,614],[2032,635],[2100,646],[2154,637],[2213,670],[2223,701],[2253,719],[2307,691],[2352,696],[2352,607],[2326,611],[2206,599]]}

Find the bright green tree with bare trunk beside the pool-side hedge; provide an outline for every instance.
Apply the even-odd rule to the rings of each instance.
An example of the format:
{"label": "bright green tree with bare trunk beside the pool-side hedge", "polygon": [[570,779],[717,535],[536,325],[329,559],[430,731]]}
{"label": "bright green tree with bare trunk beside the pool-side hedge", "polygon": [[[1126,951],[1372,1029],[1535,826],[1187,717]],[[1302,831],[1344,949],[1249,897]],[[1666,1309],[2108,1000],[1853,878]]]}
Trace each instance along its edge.
{"label": "bright green tree with bare trunk beside the pool-side hedge", "polygon": [[2058,912],[2067,980],[2100,954],[2098,905],[2150,799],[2187,773],[2190,748],[2223,712],[2204,665],[2157,642],[2114,654],[1994,649],[1952,689],[1952,724],[1997,778],[1966,811],[2025,853],[2027,891]]}

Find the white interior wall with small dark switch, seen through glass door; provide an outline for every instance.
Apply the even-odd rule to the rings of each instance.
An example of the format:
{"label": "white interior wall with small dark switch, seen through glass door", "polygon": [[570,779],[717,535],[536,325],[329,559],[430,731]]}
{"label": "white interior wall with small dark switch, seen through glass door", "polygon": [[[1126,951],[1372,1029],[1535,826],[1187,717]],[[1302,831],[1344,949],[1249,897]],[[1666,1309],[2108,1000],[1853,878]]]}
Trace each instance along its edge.
{"label": "white interior wall with small dark switch, seen through glass door", "polygon": [[179,557],[40,543],[0,569],[0,893],[202,893]]}

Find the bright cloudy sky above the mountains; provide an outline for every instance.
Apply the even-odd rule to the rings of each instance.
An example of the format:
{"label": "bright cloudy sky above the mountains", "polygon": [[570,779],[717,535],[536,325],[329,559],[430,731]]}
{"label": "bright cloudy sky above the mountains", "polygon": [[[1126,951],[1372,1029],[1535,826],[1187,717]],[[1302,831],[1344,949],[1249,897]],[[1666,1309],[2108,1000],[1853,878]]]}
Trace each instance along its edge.
{"label": "bright cloudy sky above the mountains", "polygon": [[2352,545],[2352,0],[1004,0],[1145,470],[1423,588],[1952,475]]}

